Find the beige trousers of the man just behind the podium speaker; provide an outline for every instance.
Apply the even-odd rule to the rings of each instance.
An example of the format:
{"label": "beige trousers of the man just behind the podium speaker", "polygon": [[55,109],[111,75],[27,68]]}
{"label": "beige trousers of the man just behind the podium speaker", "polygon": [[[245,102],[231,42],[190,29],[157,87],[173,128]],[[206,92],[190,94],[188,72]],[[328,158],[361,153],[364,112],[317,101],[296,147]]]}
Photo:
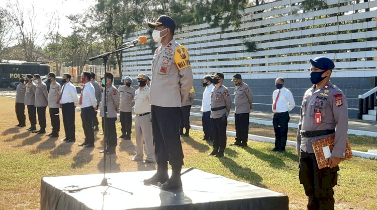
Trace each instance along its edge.
{"label": "beige trousers of the man just behind the podium speaker", "polygon": [[[151,115],[135,117],[135,132],[136,132],[136,159],[143,159],[143,146],[146,160],[155,162],[154,145],[152,136]],[[143,144],[144,142],[144,144]]]}

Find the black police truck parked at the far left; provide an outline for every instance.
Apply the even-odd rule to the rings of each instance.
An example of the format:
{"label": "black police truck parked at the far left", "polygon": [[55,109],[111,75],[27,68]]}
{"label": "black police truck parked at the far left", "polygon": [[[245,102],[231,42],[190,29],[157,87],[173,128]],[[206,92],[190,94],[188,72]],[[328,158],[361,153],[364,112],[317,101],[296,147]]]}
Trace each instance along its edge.
{"label": "black police truck parked at the far left", "polygon": [[0,87],[8,88],[13,82],[18,82],[20,77],[26,74],[39,74],[45,76],[50,72],[50,65],[37,62],[0,62]]}

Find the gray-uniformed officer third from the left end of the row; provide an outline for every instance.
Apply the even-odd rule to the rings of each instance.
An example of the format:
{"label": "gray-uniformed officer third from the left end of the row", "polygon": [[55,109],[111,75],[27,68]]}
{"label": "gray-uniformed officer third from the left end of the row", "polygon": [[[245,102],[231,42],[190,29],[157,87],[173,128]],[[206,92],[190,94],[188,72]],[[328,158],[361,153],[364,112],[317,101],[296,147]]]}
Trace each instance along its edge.
{"label": "gray-uniformed officer third from the left end of the row", "polygon": [[48,105],[47,85],[41,81],[39,74],[34,75],[34,80],[37,81],[37,90],[35,91],[35,107],[37,108],[38,122],[40,129],[33,131],[33,133],[46,133],[46,108]]}

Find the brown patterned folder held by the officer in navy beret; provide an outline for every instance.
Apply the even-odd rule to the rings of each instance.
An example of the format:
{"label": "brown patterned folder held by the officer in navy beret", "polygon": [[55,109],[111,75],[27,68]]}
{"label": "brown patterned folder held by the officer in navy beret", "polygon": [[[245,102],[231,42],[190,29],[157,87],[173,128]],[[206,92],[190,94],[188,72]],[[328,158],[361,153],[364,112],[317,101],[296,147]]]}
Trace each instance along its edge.
{"label": "brown patterned folder held by the officer in navy beret", "polygon": [[[331,136],[327,138],[322,138],[312,143],[319,169],[326,168],[328,164],[328,159],[325,158],[322,148],[329,146],[330,152],[332,152],[332,149],[334,148],[334,141],[335,136]],[[352,157],[352,150],[351,146],[349,145],[349,138],[347,137],[345,157],[342,158],[340,161],[348,160]]]}

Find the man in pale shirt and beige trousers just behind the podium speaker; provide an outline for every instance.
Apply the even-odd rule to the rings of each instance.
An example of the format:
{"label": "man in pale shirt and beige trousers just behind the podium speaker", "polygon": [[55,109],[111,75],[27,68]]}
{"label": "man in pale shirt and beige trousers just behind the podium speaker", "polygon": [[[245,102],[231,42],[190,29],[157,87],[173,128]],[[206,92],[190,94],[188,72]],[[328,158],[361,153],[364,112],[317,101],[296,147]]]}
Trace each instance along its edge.
{"label": "man in pale shirt and beige trousers just behind the podium speaker", "polygon": [[[133,161],[143,161],[143,146],[145,155],[144,163],[156,162],[152,137],[152,122],[150,115],[150,88],[146,85],[148,77],[145,74],[137,76],[139,88],[135,92],[133,104],[135,105],[135,132],[136,132],[136,155]],[[143,145],[144,142],[144,145]]]}

